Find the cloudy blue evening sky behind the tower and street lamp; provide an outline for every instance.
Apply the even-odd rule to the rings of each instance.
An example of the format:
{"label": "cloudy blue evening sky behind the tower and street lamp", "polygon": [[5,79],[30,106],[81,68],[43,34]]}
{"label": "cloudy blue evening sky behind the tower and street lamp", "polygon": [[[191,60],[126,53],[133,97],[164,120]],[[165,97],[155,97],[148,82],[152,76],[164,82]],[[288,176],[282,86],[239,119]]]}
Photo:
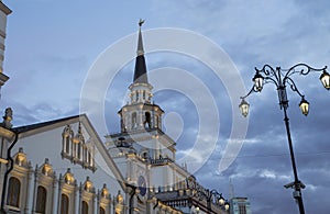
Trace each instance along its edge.
{"label": "cloudy blue evening sky behind the tower and street lamp", "polygon": [[[14,126],[79,113],[94,117],[92,106],[98,105],[81,108],[86,89],[97,91],[106,82],[95,102],[103,108],[98,115],[107,129],[98,132],[100,136],[118,132],[117,112],[127,102],[133,78],[138,22],[144,19],[154,101],[166,112],[163,128],[177,140],[177,158],[195,158],[200,165],[194,173],[202,185],[227,198],[232,192],[248,196],[254,214],[298,213],[292,190],[283,187],[294,178],[276,88],[266,85],[249,97],[248,119],[237,117],[237,103],[240,92],[252,87],[254,67],[329,66],[328,1],[3,2],[13,13],[8,18],[3,69],[10,80],[1,89],[0,106],[13,109]],[[170,37],[180,33],[187,37]],[[197,40],[186,40],[191,35]],[[206,49],[204,43],[212,45]],[[111,81],[107,74],[95,71],[102,57],[109,57]],[[326,214],[330,211],[330,94],[319,76],[293,76],[310,112],[300,113],[300,98],[288,88],[288,116],[299,179],[306,184],[306,213]],[[233,90],[233,86],[243,88]],[[97,127],[98,120],[92,119]],[[219,170],[228,144],[235,140],[233,129],[244,135],[243,144],[228,168]],[[215,144],[209,143],[215,138]]]}

